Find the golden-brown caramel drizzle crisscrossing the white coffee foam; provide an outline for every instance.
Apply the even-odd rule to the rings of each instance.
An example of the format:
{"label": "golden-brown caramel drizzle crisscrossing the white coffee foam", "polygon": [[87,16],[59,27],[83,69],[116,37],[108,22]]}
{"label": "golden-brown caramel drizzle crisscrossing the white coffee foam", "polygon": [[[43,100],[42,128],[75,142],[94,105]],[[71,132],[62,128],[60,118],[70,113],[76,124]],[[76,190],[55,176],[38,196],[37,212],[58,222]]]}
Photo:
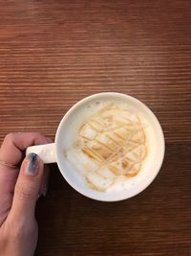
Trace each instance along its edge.
{"label": "golden-brown caramel drizzle crisscrossing the white coffee foam", "polygon": [[[104,113],[104,111],[107,111],[108,109],[110,109],[108,106],[102,108],[99,111],[99,114],[97,114],[96,116],[99,116],[100,113]],[[103,125],[100,122],[96,121],[96,117],[89,121],[87,124],[82,125],[79,130],[80,138],[83,141],[83,147],[81,151],[86,153],[90,158],[94,159],[97,162],[98,168],[96,172],[100,170],[100,168],[108,166],[109,170],[113,172],[115,175],[135,176],[138,175],[138,172],[141,169],[142,161],[145,159],[147,154],[147,149],[145,146],[145,132],[138,116],[136,116],[136,122],[133,122],[129,118],[124,118],[123,116],[120,117],[121,120],[124,121],[124,124],[120,124],[116,128],[107,128],[105,130],[105,127],[103,127]],[[113,122],[115,124],[118,123],[115,119]],[[88,125],[90,128],[96,131],[96,136],[93,139],[90,139],[81,134],[81,129],[84,128],[85,125]],[[100,132],[101,134],[103,134],[103,136],[105,136],[105,138],[109,140],[111,144],[113,144],[113,147],[100,141],[97,138]],[[136,136],[138,132],[141,132],[143,136],[141,139],[143,143],[133,140],[133,137]],[[112,133],[112,135],[109,133]],[[102,148],[102,150],[108,152],[106,153],[108,156],[104,157],[103,153],[101,153],[101,148],[100,150],[95,150],[92,147],[90,147],[89,144],[92,141],[96,142],[96,144],[99,145]],[[128,151],[124,151],[124,149],[127,149],[128,145],[131,145],[132,148],[129,149]],[[142,152],[140,152],[139,155],[136,152],[138,147],[143,147],[143,154]],[[131,153],[133,153],[136,161],[131,159],[131,157],[129,158],[127,156],[127,154],[129,155]],[[117,161],[117,159],[119,159],[119,161]],[[122,174],[121,171],[117,168],[117,164],[121,165],[120,169],[122,170]],[[138,164],[139,168],[135,170],[135,166]]]}

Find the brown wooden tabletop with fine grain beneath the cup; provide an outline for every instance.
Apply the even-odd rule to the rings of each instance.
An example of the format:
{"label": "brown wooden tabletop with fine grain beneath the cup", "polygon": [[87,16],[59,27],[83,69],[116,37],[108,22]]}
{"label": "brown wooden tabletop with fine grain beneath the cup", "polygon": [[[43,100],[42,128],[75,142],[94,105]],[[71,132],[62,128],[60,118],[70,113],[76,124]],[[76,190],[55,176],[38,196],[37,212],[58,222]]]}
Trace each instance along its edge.
{"label": "brown wooden tabletop with fine grain beneath the cup", "polygon": [[53,138],[74,103],[101,91],[148,105],[166,141],[157,179],[120,202],[79,195],[52,165],[36,256],[191,255],[190,10],[190,0],[0,2],[0,142],[11,131]]}

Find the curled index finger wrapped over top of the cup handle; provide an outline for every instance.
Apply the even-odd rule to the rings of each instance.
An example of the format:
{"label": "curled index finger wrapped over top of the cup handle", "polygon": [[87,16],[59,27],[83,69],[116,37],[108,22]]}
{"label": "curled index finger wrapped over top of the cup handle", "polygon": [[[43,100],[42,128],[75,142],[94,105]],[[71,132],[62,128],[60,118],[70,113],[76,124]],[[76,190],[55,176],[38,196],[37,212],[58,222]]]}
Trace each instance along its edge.
{"label": "curled index finger wrapped over top of the cup handle", "polygon": [[0,160],[18,165],[23,151],[29,146],[50,143],[51,140],[38,132],[9,133],[0,148]]}

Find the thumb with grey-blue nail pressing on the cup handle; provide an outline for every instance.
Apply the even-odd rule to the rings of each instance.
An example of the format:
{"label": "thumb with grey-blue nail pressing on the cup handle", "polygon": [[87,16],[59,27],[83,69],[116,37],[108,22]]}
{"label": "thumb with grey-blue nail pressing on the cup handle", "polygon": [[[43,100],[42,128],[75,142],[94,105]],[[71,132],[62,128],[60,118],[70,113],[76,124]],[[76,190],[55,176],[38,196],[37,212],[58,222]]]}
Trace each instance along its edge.
{"label": "thumb with grey-blue nail pressing on the cup handle", "polygon": [[11,207],[14,220],[22,216],[33,218],[42,178],[43,162],[37,154],[30,153],[21,165],[14,189]]}

